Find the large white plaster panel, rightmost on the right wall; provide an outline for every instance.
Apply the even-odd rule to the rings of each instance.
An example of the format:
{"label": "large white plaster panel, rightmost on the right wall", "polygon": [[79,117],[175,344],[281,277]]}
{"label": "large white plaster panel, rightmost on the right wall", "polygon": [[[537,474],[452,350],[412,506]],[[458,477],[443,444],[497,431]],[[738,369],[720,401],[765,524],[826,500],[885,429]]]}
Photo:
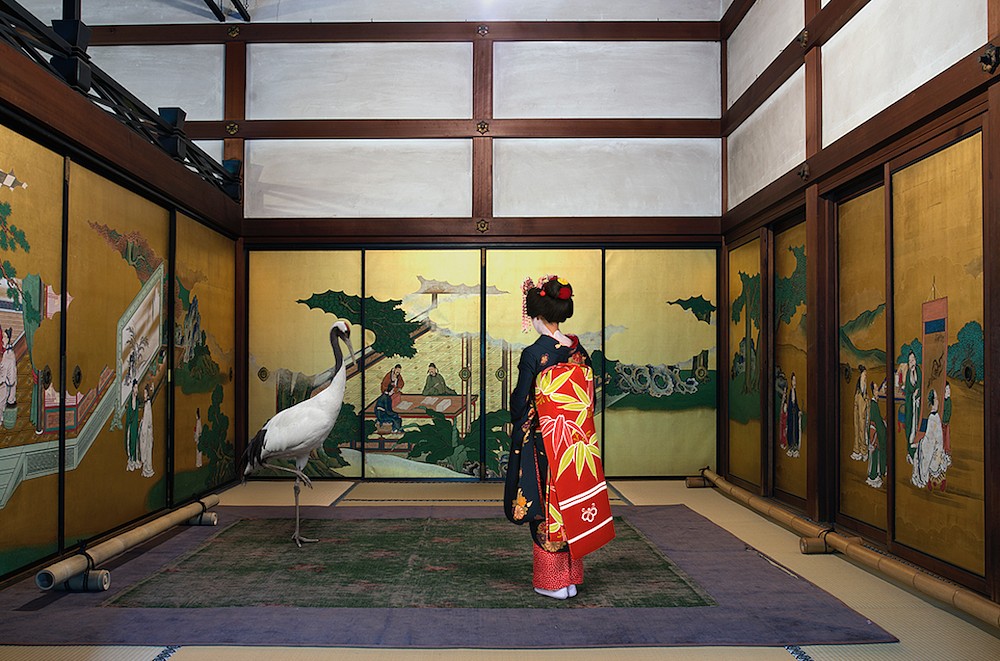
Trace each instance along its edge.
{"label": "large white plaster panel, rightmost on the right wall", "polygon": [[872,0],[823,46],[823,146],[982,46],[987,0]]}

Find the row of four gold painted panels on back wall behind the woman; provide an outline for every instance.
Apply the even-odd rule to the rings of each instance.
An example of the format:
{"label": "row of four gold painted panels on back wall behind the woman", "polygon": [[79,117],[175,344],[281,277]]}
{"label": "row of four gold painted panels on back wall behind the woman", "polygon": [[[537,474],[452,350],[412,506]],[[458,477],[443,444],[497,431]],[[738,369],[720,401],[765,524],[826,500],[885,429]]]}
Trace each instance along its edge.
{"label": "row of four gold painted panels on back wall behind the woman", "polygon": [[[249,432],[325,385],[326,338],[345,318],[365,370],[348,371],[350,425],[307,473],[502,477],[508,398],[536,337],[522,333],[522,286],[554,274],[574,288],[562,328],[603,376],[607,473],[690,474],[715,461],[716,259],[714,249],[255,251]],[[605,355],[605,341],[615,353]],[[626,392],[643,378],[645,391]],[[296,388],[295,398],[282,394]]]}

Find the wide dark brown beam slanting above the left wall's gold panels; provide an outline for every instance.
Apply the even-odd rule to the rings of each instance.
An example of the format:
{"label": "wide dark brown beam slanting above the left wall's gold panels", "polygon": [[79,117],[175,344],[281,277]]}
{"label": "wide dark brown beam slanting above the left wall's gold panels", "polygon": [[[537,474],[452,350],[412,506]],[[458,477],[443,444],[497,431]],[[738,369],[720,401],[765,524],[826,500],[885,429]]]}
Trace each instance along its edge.
{"label": "wide dark brown beam slanting above the left wall's gold panels", "polygon": [[85,96],[0,43],[0,103],[60,136],[123,176],[148,186],[229,235],[239,232],[238,204],[192,174]]}

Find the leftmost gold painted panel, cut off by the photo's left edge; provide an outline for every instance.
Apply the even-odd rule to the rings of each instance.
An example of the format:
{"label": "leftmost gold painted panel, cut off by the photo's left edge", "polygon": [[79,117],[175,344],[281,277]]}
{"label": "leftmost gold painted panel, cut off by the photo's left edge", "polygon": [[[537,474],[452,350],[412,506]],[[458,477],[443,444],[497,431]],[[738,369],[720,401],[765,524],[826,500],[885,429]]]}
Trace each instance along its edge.
{"label": "leftmost gold painted panel, cut off by the photo's left edge", "polygon": [[0,127],[0,576],[57,550],[62,183]]}

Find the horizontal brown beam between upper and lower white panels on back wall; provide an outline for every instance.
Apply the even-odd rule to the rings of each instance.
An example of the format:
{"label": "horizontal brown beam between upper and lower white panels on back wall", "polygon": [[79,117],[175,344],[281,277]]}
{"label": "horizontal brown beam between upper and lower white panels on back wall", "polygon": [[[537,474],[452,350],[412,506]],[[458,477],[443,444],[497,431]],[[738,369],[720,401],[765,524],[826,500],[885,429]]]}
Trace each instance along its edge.
{"label": "horizontal brown beam between upper and lower white panels on back wall", "polygon": [[233,135],[262,138],[717,138],[717,119],[488,119],[488,131],[473,119],[257,119],[194,121],[185,132],[198,140]]}

